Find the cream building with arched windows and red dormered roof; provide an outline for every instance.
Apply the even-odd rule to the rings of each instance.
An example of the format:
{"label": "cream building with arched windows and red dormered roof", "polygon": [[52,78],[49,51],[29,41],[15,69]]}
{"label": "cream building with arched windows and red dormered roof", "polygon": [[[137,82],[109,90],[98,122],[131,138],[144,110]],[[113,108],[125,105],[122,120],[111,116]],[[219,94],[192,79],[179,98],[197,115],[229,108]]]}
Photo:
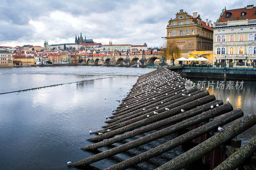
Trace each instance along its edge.
{"label": "cream building with arched windows and red dormered roof", "polygon": [[256,65],[256,7],[222,10],[213,25],[215,64]]}

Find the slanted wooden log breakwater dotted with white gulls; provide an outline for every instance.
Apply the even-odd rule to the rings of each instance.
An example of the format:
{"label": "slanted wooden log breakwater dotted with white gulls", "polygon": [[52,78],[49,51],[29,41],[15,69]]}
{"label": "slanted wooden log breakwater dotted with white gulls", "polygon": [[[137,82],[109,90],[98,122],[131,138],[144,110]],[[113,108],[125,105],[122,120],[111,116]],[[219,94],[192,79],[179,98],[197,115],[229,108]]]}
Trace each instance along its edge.
{"label": "slanted wooden log breakwater dotted with white gulls", "polygon": [[[180,169],[234,140],[238,134],[256,124],[254,114],[244,115],[241,109],[233,110],[230,103],[216,100],[208,91],[188,87],[188,82],[165,68],[140,76],[116,112],[112,113],[111,119],[106,121],[108,124],[102,126],[104,129],[94,132],[99,135],[87,139],[96,143],[80,148],[85,152],[106,146],[108,149],[68,166],[90,165],[186,130],[187,133],[164,141],[153,149],[106,167],[107,170],[127,169],[198,139],[198,145],[156,168]],[[218,127],[224,130],[218,131]],[[142,135],[144,133],[146,135]],[[130,140],[123,143],[126,139]],[[211,169],[236,168],[255,151],[256,136],[227,160],[219,162],[219,166],[216,163],[211,165]]]}

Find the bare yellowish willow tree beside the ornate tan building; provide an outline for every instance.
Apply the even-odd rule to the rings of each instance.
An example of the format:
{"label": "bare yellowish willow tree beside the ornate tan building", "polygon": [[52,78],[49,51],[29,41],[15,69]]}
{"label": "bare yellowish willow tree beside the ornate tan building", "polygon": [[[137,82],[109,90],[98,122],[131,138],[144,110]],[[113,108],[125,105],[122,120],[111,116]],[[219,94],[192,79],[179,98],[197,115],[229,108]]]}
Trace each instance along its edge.
{"label": "bare yellowish willow tree beside the ornate tan building", "polygon": [[168,40],[165,41],[162,46],[162,51],[164,52],[164,59],[165,60],[176,60],[180,58],[180,48],[178,47],[178,44],[174,40]]}

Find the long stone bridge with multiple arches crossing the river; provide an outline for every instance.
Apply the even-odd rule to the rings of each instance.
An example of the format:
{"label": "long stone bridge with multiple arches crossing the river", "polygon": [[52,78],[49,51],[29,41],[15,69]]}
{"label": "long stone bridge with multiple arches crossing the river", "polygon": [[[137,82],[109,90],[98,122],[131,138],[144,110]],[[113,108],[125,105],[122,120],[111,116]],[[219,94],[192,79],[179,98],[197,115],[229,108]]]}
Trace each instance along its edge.
{"label": "long stone bridge with multiple arches crossing the river", "polygon": [[140,65],[153,64],[156,59],[161,59],[161,54],[149,55],[109,55],[109,56],[91,56],[83,57],[83,64],[88,65],[134,65],[140,60]]}

